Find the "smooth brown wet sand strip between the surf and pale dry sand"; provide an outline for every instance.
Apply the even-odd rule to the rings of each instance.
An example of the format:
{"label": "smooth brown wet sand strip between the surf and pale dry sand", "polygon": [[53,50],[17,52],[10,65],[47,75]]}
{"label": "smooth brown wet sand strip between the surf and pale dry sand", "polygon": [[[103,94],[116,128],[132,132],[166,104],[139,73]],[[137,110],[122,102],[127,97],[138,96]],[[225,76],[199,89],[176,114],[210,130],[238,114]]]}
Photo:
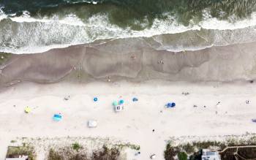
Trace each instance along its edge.
{"label": "smooth brown wet sand strip between the surf and pale dry sand", "polygon": [[174,53],[156,50],[145,40],[115,39],[45,53],[12,55],[0,66],[0,84],[251,80],[256,77],[255,61],[255,42]]}

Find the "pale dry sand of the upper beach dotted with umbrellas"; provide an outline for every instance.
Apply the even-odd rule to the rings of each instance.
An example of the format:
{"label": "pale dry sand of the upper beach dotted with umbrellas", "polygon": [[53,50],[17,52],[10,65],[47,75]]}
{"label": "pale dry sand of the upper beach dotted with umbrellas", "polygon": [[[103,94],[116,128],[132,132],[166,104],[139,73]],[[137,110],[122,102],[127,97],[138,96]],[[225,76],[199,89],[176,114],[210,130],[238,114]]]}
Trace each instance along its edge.
{"label": "pale dry sand of the upper beach dotted with umbrellas", "polygon": [[[132,102],[134,97],[138,102]],[[2,89],[0,99],[0,159],[15,137],[110,137],[140,145],[140,156],[129,153],[127,159],[146,160],[152,153],[164,159],[170,137],[256,131],[254,83],[21,83]],[[112,102],[118,99],[124,99],[124,110],[115,113]],[[165,108],[167,102],[176,107]],[[26,106],[31,113],[24,113]],[[54,113],[63,120],[53,121]],[[98,121],[97,128],[87,127],[89,119]]]}

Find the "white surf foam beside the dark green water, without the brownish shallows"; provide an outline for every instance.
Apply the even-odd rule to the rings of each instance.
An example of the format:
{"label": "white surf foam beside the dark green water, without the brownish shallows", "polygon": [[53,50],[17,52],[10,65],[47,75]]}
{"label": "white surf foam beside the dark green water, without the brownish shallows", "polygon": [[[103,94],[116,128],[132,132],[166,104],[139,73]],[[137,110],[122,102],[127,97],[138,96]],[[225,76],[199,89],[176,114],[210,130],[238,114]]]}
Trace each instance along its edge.
{"label": "white surf foam beside the dark green water, without the brownish shallows", "polygon": [[[151,28],[145,28],[142,31],[120,28],[111,24],[108,20],[108,15],[94,15],[88,20],[81,20],[72,14],[67,15],[65,18],[59,18],[57,15],[50,18],[31,18],[29,12],[26,11],[19,17],[13,17],[4,15],[4,12],[1,12],[0,9],[0,21],[4,18],[10,18],[10,20],[16,23],[18,29],[17,31],[5,31],[4,36],[7,39],[2,39],[2,41],[0,39],[0,44],[2,44],[0,51],[17,54],[41,53],[55,47],[89,43],[97,39],[152,37],[159,34],[176,34],[189,30],[200,30],[200,28],[227,30],[256,26],[256,13],[253,13],[252,18],[248,20],[238,20],[236,23],[230,23],[225,20],[211,18],[206,12],[205,20],[198,25],[194,25],[191,20],[189,26],[178,24],[176,18],[167,15],[165,20],[155,19]],[[29,25],[25,23],[29,23]],[[144,20],[140,25],[146,26],[147,23],[147,20]],[[3,31],[1,32],[3,33]],[[8,38],[12,40],[6,42]],[[182,47],[182,45],[181,48],[165,47],[166,50],[172,51],[198,49],[197,46],[192,48]],[[202,48],[202,46],[199,48]]]}

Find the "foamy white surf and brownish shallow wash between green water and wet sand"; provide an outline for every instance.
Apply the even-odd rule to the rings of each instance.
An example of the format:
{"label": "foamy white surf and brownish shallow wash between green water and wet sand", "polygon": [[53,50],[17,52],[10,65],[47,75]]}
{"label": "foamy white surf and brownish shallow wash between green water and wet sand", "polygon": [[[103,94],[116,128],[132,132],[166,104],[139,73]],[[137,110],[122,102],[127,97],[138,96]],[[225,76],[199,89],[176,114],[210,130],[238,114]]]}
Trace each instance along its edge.
{"label": "foamy white surf and brownish shallow wash between green water and wet sand", "polygon": [[252,18],[236,23],[207,15],[203,21],[191,21],[188,26],[178,23],[170,14],[165,13],[165,16],[165,19],[154,19],[150,28],[136,31],[110,23],[106,14],[92,15],[88,19],[80,19],[74,14],[34,18],[27,11],[15,16],[5,15],[0,10],[0,51],[40,53],[54,47],[91,43],[98,39],[129,37],[147,37],[150,39],[148,42],[157,44],[157,50],[180,51],[254,42],[256,39],[256,13]]}

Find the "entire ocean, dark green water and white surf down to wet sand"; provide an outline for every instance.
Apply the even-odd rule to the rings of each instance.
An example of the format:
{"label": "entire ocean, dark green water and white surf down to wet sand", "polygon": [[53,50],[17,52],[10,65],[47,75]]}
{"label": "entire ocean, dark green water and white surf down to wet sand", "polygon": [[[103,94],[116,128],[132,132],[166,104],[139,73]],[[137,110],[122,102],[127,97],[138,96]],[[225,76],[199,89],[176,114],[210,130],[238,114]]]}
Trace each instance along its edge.
{"label": "entire ocean, dark green water and white surf down to wet sand", "polygon": [[256,1],[0,0],[0,52],[130,37],[169,51],[255,42]]}

